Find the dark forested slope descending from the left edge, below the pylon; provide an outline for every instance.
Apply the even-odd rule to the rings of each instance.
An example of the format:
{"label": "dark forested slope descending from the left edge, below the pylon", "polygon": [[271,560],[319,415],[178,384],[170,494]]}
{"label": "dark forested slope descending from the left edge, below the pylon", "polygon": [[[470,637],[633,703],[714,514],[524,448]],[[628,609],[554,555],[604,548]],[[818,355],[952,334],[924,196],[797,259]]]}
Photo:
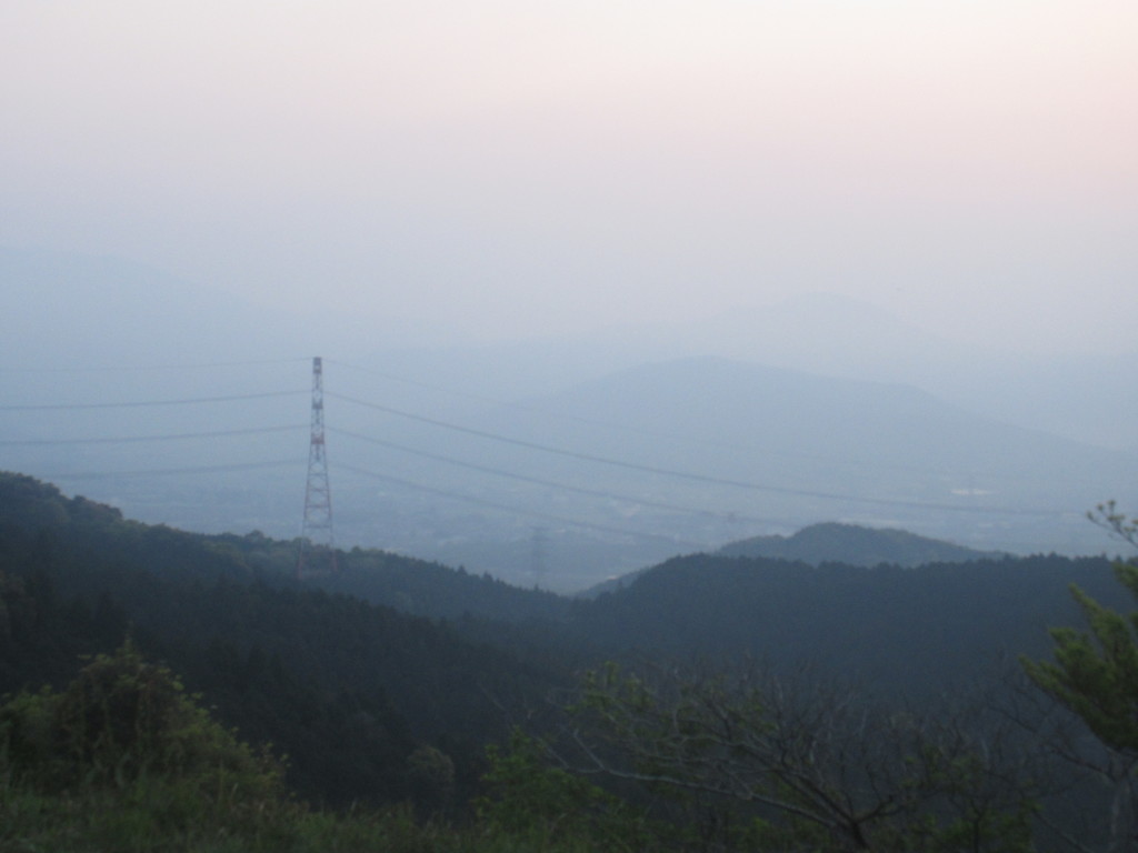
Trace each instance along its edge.
{"label": "dark forested slope descending from the left edge, below the pylon", "polygon": [[426,745],[467,793],[485,743],[562,677],[426,618],[257,575],[216,538],[0,475],[0,694],[59,686],[77,655],[132,635],[242,737],[288,753],[306,795],[390,801],[414,793],[406,762]]}

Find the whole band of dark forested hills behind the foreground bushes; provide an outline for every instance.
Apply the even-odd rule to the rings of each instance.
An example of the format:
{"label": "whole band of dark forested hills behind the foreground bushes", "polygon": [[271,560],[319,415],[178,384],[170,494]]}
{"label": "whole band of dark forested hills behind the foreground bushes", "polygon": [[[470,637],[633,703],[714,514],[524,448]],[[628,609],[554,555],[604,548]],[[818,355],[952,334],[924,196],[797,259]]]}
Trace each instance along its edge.
{"label": "whole band of dark forested hills behind the foreground bushes", "polygon": [[605,659],[751,656],[920,701],[1048,655],[1048,628],[1081,623],[1071,583],[1131,606],[1105,558],[906,569],[694,555],[569,601],[357,549],[340,553],[338,578],[298,582],[294,547],[150,527],[0,474],[0,694],[63,684],[79,655],[131,636],[242,737],[287,752],[308,796],[403,798],[409,761],[429,748],[453,764],[457,798],[488,742]]}

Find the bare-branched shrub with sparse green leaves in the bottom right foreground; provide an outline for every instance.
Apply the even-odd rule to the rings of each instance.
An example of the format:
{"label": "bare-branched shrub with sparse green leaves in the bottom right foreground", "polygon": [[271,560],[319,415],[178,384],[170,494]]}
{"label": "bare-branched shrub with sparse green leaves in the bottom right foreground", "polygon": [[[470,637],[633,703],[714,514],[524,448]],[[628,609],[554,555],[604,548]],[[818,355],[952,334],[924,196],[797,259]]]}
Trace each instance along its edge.
{"label": "bare-branched shrub with sparse green leaves in the bottom right foreground", "polygon": [[584,765],[698,803],[726,827],[707,834],[707,848],[1031,847],[1026,773],[1008,732],[987,722],[918,719],[754,668],[728,677],[609,665],[570,710]]}

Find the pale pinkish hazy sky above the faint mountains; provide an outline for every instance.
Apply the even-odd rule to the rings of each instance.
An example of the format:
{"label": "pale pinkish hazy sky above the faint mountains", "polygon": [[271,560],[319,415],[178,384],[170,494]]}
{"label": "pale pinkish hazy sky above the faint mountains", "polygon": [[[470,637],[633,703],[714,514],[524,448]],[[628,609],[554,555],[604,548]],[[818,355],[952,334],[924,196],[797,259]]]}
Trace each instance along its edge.
{"label": "pale pinkish hazy sky above the faint mountains", "polygon": [[2,0],[0,243],[518,336],[1133,348],[1135,0]]}

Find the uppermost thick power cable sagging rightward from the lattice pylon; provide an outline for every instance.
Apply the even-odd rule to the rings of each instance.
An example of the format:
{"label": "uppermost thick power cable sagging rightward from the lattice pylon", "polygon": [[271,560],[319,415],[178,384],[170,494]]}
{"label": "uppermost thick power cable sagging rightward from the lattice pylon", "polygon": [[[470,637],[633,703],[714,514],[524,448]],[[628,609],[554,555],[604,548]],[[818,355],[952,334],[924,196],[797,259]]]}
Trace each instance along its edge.
{"label": "uppermost thick power cable sagging rightward from the lattice pylon", "polygon": [[676,479],[688,480],[693,482],[703,482],[714,486],[729,486],[737,489],[747,489],[749,491],[764,491],[773,492],[776,495],[792,495],[795,497],[810,497],[810,498],[824,498],[827,500],[848,500],[853,503],[872,504],[875,506],[898,506],[908,507],[915,510],[938,510],[941,512],[954,512],[954,513],[999,513],[1004,515],[1032,515],[1032,516],[1050,516],[1062,514],[1056,510],[1016,510],[1011,507],[997,507],[997,506],[960,506],[958,504],[943,504],[937,502],[926,500],[904,500],[900,498],[874,498],[864,497],[858,495],[846,495],[841,492],[832,491],[818,491],[814,489],[797,489],[786,486],[770,486],[766,483],[754,483],[748,482],[745,480],[733,480],[729,478],[721,477],[710,477],[707,474],[696,474],[690,471],[676,471],[673,469],[658,467],[654,465],[642,465],[635,462],[625,462],[622,459],[613,459],[607,456],[596,456],[594,454],[580,453],[577,450],[567,450],[560,447],[551,447],[550,445],[542,445],[536,441],[526,441],[519,438],[510,438],[508,436],[500,436],[494,432],[487,432],[485,430],[477,430],[470,426],[461,426],[459,424],[448,423],[446,421],[439,421],[434,417],[426,417],[423,415],[417,415],[411,412],[403,412],[402,409],[393,408],[390,406],[382,406],[378,403],[368,403],[366,400],[356,399],[354,397],[348,397],[346,395],[333,394],[331,391],[327,392],[328,397],[332,397],[345,403],[352,403],[357,406],[363,406],[365,408],[376,409],[378,412],[384,412],[386,414],[395,415],[397,417],[404,417],[418,423],[428,423],[432,426],[439,426],[442,429],[453,430],[455,432],[462,432],[468,436],[477,436],[479,438],[489,439],[492,441],[500,441],[502,444],[512,445],[514,447],[525,447],[531,450],[538,450],[542,453],[549,453],[556,456],[564,456],[568,458],[580,459],[583,462],[593,462],[601,465],[610,465],[613,467],[621,467],[628,471],[640,471],[642,473],[659,474],[662,477],[673,477]]}

